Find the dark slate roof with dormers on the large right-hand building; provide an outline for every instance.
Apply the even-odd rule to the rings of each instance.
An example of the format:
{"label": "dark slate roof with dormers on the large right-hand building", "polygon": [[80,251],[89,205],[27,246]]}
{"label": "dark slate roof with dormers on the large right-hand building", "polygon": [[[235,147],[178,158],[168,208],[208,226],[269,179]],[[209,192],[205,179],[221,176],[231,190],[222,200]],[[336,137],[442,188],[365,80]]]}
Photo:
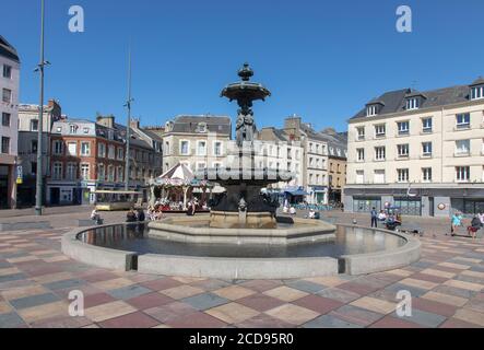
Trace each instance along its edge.
{"label": "dark slate roof with dormers on the large right-hand building", "polygon": [[[389,91],[383,93],[381,96],[374,98],[373,101],[382,102],[382,107],[378,113],[379,116],[393,114],[399,112],[405,112],[405,98],[422,95],[425,98],[421,102],[420,109],[433,108],[446,105],[452,105],[457,103],[469,102],[470,97],[470,86],[479,85],[483,83],[484,79],[480,78],[474,81],[471,85],[456,85],[450,88],[429,90],[424,92],[418,92],[412,89],[402,89],[396,91]],[[366,117],[366,108],[359,110],[351,119],[358,119]]]}

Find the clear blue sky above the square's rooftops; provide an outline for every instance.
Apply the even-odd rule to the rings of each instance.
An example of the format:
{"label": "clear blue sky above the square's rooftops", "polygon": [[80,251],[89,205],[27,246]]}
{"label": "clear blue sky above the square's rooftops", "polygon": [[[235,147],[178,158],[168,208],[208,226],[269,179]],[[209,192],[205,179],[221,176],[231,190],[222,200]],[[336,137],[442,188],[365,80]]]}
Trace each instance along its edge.
{"label": "clear blue sky above the square's rooftops", "polygon": [[[346,120],[388,90],[467,84],[484,74],[482,0],[46,0],[46,97],[71,117],[126,119],[127,51],[133,48],[133,115],[142,125],[179,114],[223,114],[220,97],[249,61],[273,96],[259,127],[298,114],[317,129]],[[39,0],[2,3],[0,34],[21,55],[21,102],[38,102]],[[71,5],[85,32],[68,30]],[[413,32],[396,10],[413,10]],[[8,15],[5,15],[8,14]]]}

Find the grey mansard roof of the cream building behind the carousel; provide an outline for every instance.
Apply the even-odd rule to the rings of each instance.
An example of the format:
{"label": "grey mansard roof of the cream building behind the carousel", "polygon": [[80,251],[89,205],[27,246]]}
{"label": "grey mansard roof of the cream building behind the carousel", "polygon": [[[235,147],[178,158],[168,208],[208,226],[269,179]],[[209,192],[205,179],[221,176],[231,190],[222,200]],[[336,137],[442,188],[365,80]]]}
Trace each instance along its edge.
{"label": "grey mansard roof of the cream building behind the carousel", "polygon": [[166,132],[196,133],[199,125],[204,122],[209,132],[232,135],[231,118],[226,116],[178,116],[172,122],[172,130]]}

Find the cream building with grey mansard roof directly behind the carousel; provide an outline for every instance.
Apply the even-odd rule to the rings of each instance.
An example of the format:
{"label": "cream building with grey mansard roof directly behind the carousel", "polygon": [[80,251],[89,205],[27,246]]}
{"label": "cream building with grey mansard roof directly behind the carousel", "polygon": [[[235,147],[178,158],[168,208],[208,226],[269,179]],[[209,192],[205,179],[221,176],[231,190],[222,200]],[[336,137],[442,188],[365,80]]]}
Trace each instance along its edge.
{"label": "cream building with grey mansard roof directly behind the carousel", "polygon": [[192,172],[226,166],[232,137],[229,117],[178,116],[167,121],[164,129],[152,127],[144,130],[163,137],[163,172],[178,162]]}

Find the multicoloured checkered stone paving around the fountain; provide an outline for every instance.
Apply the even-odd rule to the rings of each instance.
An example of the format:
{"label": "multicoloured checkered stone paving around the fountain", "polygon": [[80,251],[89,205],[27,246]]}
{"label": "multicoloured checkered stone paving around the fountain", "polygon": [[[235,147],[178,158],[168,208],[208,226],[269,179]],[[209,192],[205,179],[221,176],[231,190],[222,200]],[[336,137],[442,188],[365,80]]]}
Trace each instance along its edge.
{"label": "multicoloured checkered stone paving around the fountain", "polygon": [[[337,221],[354,217],[331,214]],[[244,281],[76,262],[60,252],[69,228],[59,217],[50,218],[52,230],[0,232],[0,328],[484,327],[484,244],[444,235],[446,221],[422,219],[422,259],[405,268],[363,277]],[[72,290],[85,295],[83,317],[68,315]],[[411,317],[396,314],[400,290],[412,293]]]}

